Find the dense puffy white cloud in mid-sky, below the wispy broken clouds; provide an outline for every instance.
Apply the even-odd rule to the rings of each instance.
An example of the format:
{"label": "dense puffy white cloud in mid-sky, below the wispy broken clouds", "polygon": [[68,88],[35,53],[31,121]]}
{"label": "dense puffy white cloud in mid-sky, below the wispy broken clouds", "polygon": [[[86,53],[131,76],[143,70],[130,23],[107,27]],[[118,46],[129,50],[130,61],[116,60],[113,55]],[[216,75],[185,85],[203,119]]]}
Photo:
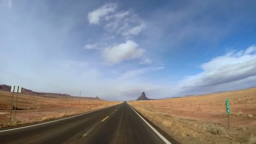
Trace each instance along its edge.
{"label": "dense puffy white cloud in mid-sky, below the wispy broken clouds", "polygon": [[106,64],[117,64],[125,60],[139,59],[145,52],[144,49],[138,48],[138,44],[132,40],[127,40],[125,43],[106,48],[102,56],[106,60]]}

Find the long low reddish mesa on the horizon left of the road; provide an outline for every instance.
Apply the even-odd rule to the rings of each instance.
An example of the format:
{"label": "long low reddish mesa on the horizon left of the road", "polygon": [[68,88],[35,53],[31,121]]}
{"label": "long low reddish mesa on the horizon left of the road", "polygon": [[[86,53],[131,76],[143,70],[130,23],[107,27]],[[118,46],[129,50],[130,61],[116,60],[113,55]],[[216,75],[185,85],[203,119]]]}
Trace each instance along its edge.
{"label": "long low reddish mesa on the horizon left of the road", "polygon": [[[11,86],[10,85],[0,85],[0,91],[11,91]],[[42,96],[42,97],[58,98],[58,99],[71,99],[71,98],[77,97],[77,96],[71,96],[69,94],[61,94],[61,93],[35,92],[35,91],[29,90],[27,88],[21,88],[21,93],[26,94],[26,95]],[[96,96],[96,97],[81,97],[81,99],[102,101],[102,99],[99,99],[98,96]]]}

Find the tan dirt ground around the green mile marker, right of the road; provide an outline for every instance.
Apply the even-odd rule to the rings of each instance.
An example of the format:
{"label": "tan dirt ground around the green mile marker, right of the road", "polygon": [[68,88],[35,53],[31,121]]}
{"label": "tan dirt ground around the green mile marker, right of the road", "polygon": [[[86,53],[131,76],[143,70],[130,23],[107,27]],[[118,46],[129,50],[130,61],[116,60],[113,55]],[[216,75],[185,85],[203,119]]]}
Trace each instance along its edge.
{"label": "tan dirt ground around the green mile marker, right of the road", "polygon": [[256,144],[256,88],[128,104],[181,143]]}

